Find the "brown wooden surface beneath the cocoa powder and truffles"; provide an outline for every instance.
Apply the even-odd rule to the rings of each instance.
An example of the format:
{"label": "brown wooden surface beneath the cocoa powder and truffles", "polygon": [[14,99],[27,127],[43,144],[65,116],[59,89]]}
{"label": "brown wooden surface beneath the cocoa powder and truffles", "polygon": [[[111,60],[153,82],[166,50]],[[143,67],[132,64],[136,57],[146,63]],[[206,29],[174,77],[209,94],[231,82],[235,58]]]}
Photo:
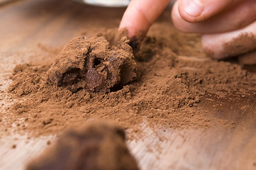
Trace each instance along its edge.
{"label": "brown wooden surface beneath the cocoa powder and truffles", "polygon": [[[91,26],[117,27],[123,11],[124,8],[96,8],[60,0],[16,1],[0,6],[0,114],[12,104],[6,87],[11,83],[8,74],[15,64],[46,62],[71,38],[100,31],[92,30]],[[247,106],[247,111],[241,106]],[[210,128],[164,132],[143,124],[145,137],[128,141],[141,169],[256,169],[255,96],[206,96],[200,107],[208,111]],[[218,120],[237,123],[230,128],[219,125]],[[24,169],[26,162],[40,154],[47,141],[54,138],[2,135],[0,169]],[[11,149],[13,145],[16,149]]]}

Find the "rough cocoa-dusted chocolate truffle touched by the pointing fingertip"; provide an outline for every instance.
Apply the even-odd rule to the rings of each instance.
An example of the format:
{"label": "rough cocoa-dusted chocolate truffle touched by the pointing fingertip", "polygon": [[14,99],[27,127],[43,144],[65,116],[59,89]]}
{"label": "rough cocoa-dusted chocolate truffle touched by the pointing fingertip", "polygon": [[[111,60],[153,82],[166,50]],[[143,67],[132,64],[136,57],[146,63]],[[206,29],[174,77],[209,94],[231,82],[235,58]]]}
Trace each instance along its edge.
{"label": "rough cocoa-dusted chocolate truffle touched by the pointing fingertip", "polygon": [[123,37],[116,47],[104,38],[76,38],[48,70],[48,82],[67,86],[72,92],[117,91],[139,77],[128,42]]}

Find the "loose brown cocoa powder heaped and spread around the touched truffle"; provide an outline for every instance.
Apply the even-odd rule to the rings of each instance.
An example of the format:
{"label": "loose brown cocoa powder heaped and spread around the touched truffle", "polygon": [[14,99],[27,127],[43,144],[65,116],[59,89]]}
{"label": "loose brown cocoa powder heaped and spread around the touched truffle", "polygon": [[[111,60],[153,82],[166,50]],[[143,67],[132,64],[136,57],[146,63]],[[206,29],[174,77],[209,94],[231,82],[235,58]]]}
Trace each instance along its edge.
{"label": "loose brown cocoa powder heaped and spread around the touched truffle", "polygon": [[[118,81],[108,79],[107,75],[110,75],[107,71],[110,63],[108,57],[98,56],[102,62],[95,62],[93,60],[97,58],[95,52],[91,50],[92,53],[87,54],[89,46],[79,46],[81,38],[71,42],[73,45],[77,43],[77,48],[71,45],[72,48],[65,49],[69,50],[69,54],[77,54],[77,50],[83,48],[85,57],[78,58],[77,61],[80,59],[84,61],[85,58],[94,61],[89,62],[90,68],[94,68],[97,63],[99,67],[91,70],[94,75],[105,74],[107,79],[101,77],[99,82],[111,80],[107,84],[99,83],[102,85],[99,86],[96,83],[93,85],[94,88],[79,84],[79,82],[87,82],[87,76],[82,75],[87,75],[88,69],[82,71],[84,74],[79,71],[77,76],[78,74],[72,72],[70,74],[68,67],[63,67],[64,72],[57,77],[58,80],[49,81],[50,75],[54,74],[52,70],[57,70],[50,69],[51,63],[17,65],[11,76],[13,83],[9,87],[9,92],[16,101],[9,108],[8,113],[13,113],[8,115],[9,120],[16,124],[15,129],[18,132],[28,132],[32,136],[59,134],[67,128],[77,127],[87,123],[87,120],[99,118],[114,121],[134,132],[140,130],[140,124],[145,120],[154,127],[159,125],[162,128],[206,128],[208,119],[204,116],[204,108],[199,107],[204,96],[227,98],[233,95],[255,94],[255,73],[247,72],[238,64],[208,59],[199,50],[198,35],[177,34],[176,37],[172,35],[174,36],[172,39],[167,35],[163,36],[160,30],[156,29],[152,32],[155,35],[146,37],[140,46],[140,51],[134,54],[135,62],[134,59],[129,59],[133,58],[131,52],[122,48],[122,45],[128,47],[127,43],[123,43],[125,41],[114,47],[106,45],[106,40],[102,40],[105,46],[101,47],[106,49],[104,56],[110,55],[111,50],[114,50],[114,53],[121,52],[123,58],[128,58],[121,60],[115,66],[119,68],[116,69],[118,72],[121,72],[121,66],[127,61],[133,63],[128,65],[126,72],[128,74],[121,76],[128,77],[125,83],[121,83],[121,74],[115,74],[118,75],[116,76]],[[104,34],[106,33],[101,35]],[[57,60],[60,60],[63,54],[67,54],[65,49]],[[69,61],[68,57],[69,55],[62,61]],[[74,61],[72,58],[70,60]],[[59,64],[59,67],[61,64],[65,66],[64,62],[56,61],[55,64]],[[84,64],[80,67],[79,63],[73,66],[83,70]],[[89,68],[88,64],[86,68]],[[137,69],[138,71],[135,71]],[[141,74],[140,79],[137,77],[138,72]],[[62,86],[64,74],[67,73],[72,83]],[[118,88],[111,90],[115,84],[118,84]],[[6,132],[10,131],[11,123],[3,123]]]}

